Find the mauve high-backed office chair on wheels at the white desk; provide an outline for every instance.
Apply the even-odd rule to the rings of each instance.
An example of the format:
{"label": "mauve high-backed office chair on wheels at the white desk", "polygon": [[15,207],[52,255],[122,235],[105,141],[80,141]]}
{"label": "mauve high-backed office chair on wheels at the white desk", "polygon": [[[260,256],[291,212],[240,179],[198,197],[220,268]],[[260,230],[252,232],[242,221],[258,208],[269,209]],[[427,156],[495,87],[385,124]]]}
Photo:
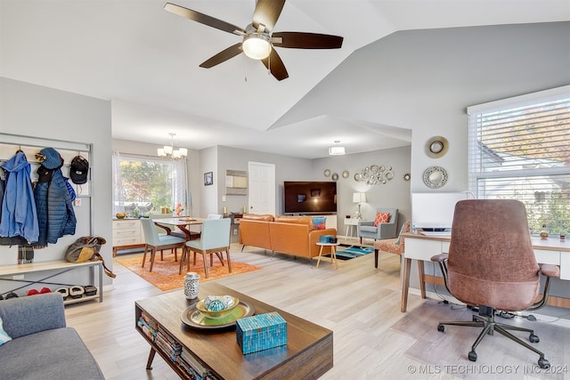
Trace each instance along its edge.
{"label": "mauve high-backed office chair on wheels at the white desk", "polygon": [[[477,360],[477,345],[496,331],[538,353],[538,365],[550,368],[544,353],[508,331],[524,331],[529,333],[531,343],[538,343],[540,339],[532,329],[495,321],[497,311],[536,310],[544,306],[550,278],[560,275],[557,265],[543,264],[541,268],[536,263],[523,203],[511,199],[459,201],[453,215],[449,254],[436,255],[431,260],[440,264],[449,292],[460,302],[478,309],[472,321],[437,325],[442,333],[444,325],[483,327],[468,352],[469,360]],[[536,301],[541,272],[546,281],[543,295]]]}

